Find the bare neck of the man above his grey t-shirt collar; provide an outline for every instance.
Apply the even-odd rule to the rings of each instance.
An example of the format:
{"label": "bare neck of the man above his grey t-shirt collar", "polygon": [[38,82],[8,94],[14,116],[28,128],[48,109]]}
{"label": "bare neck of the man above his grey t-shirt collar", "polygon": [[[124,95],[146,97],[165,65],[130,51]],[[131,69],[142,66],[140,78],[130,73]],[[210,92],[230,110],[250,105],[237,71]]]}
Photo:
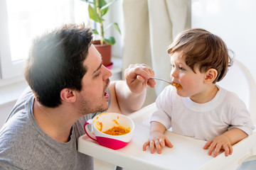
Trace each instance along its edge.
{"label": "bare neck of the man above his grey t-shirt collar", "polygon": [[57,108],[46,108],[38,101],[33,103],[33,115],[39,127],[48,136],[58,142],[68,142],[70,140],[70,130],[78,118],[63,106]]}

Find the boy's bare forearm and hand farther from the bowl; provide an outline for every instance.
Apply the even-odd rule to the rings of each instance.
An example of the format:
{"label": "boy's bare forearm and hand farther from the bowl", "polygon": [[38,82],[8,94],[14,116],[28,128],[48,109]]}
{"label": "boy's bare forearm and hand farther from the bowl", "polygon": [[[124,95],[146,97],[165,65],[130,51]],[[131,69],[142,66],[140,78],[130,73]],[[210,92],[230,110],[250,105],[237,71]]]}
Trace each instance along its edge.
{"label": "boy's bare forearm and hand farther from the bowl", "polygon": [[224,132],[222,135],[214,137],[213,140],[208,141],[203,149],[208,149],[208,147],[210,147],[208,154],[211,155],[213,153],[213,157],[217,156],[220,149],[224,149],[225,156],[228,157],[228,154],[232,154],[233,152],[232,145],[243,140],[247,136],[246,132],[238,128],[232,128],[227,132]]}

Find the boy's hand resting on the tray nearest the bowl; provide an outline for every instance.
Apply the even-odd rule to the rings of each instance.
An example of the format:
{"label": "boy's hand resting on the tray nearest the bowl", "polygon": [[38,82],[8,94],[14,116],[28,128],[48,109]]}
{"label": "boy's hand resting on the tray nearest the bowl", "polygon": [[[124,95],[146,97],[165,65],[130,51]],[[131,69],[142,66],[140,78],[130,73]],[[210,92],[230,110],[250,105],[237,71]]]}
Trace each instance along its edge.
{"label": "boy's hand resting on the tray nearest the bowl", "polygon": [[149,140],[144,143],[143,150],[146,151],[146,147],[149,146],[151,154],[154,154],[154,148],[156,147],[157,153],[161,154],[162,147],[174,147],[171,142],[161,132],[151,132]]}

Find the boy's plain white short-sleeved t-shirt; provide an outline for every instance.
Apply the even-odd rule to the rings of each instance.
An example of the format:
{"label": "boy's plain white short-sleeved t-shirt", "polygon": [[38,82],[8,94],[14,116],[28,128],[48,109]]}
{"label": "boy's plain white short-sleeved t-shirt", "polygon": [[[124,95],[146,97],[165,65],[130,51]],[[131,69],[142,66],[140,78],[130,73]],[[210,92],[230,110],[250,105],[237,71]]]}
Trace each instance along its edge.
{"label": "boy's plain white short-sleeved t-shirt", "polygon": [[151,121],[180,135],[211,140],[230,128],[239,128],[250,135],[255,129],[245,103],[233,92],[218,86],[218,93],[207,103],[195,103],[178,96],[176,88],[166,86],[156,98],[156,111]]}

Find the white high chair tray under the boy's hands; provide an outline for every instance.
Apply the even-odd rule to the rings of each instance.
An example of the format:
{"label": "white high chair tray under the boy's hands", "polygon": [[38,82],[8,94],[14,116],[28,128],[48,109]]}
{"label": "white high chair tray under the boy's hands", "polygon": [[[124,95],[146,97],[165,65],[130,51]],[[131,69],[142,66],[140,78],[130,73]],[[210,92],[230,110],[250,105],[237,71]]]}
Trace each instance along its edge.
{"label": "white high chair tray under the boy's hands", "polygon": [[[161,154],[151,154],[149,149],[142,151],[142,145],[149,137],[149,118],[156,105],[152,103],[140,111],[129,115],[135,123],[132,141],[122,149],[102,147],[83,135],[78,140],[78,151],[101,159],[124,169],[236,169],[247,156],[255,152],[256,132],[233,146],[233,154],[225,157],[224,153],[213,158],[208,150],[203,149],[206,141],[177,135],[166,131],[166,136],[174,145],[164,147]],[[250,139],[249,139],[250,138]]]}

